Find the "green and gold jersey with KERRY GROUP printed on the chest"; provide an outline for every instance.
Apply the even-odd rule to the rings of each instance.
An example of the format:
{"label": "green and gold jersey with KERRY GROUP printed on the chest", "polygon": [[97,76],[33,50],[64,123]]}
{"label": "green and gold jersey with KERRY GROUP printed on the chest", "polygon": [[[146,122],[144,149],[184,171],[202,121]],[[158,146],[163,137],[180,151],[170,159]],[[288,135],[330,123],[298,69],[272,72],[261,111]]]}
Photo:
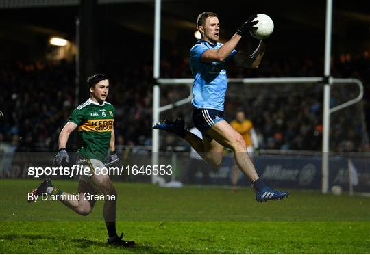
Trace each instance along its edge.
{"label": "green and gold jersey with KERRY GROUP printed on the chest", "polygon": [[106,160],[116,111],[110,103],[103,104],[89,99],[73,111],[69,121],[77,124],[82,138],[78,154],[89,158]]}

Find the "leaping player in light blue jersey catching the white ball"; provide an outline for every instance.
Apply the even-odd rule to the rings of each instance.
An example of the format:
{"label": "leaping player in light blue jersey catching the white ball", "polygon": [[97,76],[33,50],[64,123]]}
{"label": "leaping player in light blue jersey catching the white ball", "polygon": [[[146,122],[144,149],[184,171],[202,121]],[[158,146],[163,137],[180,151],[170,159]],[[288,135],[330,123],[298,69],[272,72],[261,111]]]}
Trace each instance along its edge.
{"label": "leaping player in light blue jersey catching the white ball", "polygon": [[247,55],[236,51],[241,38],[246,38],[258,21],[257,15],[249,17],[225,44],[217,42],[220,23],[217,14],[203,12],[198,16],[197,27],[201,40],[190,50],[190,68],[193,72],[193,122],[201,131],[203,140],[184,128],[184,120],[164,120],[153,129],[162,129],[179,135],[201,155],[209,165],[221,165],[223,147],[232,149],[239,169],[251,180],[256,189],[256,200],[279,200],[289,195],[264,185],[247,153],[243,137],[223,119],[223,107],[227,90],[227,66],[236,64],[245,68],[258,68],[266,44],[261,40],[256,51]]}

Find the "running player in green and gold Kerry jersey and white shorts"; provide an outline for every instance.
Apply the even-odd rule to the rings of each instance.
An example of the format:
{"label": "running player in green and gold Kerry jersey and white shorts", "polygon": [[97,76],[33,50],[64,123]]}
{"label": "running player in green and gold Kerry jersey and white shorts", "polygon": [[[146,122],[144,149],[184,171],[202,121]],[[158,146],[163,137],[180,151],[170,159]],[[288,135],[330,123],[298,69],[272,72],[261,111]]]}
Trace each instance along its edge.
{"label": "running player in green and gold Kerry jersey and white shorts", "polygon": [[[77,151],[77,165],[89,167],[90,172],[79,178],[78,193],[79,199],[71,199],[73,196],[60,196],[60,201],[80,215],[88,215],[93,211],[95,200],[86,200],[84,194],[103,194],[114,197],[112,200],[105,200],[103,216],[108,230],[108,243],[132,247],[134,241],[123,240],[123,234],[119,237],[116,233],[116,189],[108,174],[98,172],[106,165],[112,165],[119,158],[114,147],[114,116],[116,111],[113,105],[106,102],[109,92],[109,79],[106,75],[97,74],[88,78],[88,90],[90,98],[79,105],[73,111],[59,135],[59,152],[54,159],[56,165],[62,161],[69,162],[69,155],[66,152],[66,143],[69,135],[78,128],[82,138],[82,147]],[[109,160],[106,165],[110,150]],[[34,198],[41,193],[52,195],[69,195],[68,193],[54,187],[49,178],[45,178],[40,186],[33,191]],[[113,195],[113,196],[112,196]],[[89,197],[90,197],[89,196]],[[69,198],[69,199],[67,199]],[[29,201],[32,202],[32,201]]]}

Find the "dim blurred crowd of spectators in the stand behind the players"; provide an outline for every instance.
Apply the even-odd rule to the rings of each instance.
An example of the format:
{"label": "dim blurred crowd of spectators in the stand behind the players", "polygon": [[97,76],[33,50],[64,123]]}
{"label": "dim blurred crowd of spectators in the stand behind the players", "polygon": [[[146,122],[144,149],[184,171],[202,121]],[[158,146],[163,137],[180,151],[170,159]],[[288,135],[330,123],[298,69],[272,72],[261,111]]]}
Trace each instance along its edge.
{"label": "dim blurred crowd of spectators in the stand behind the players", "polygon": [[[188,59],[177,51],[171,51],[164,59],[161,77],[191,77]],[[229,77],[320,77],[322,68],[322,61],[311,57],[302,62],[295,58],[265,58],[257,70],[231,68]],[[114,124],[116,144],[151,145],[152,66],[114,66],[111,73],[108,101],[117,113]],[[358,56],[334,57],[332,75],[360,79],[365,85],[365,100],[332,114],[330,148],[336,152],[369,150],[364,125],[364,115],[370,109],[367,96],[370,86],[369,51]],[[75,64],[17,62],[2,66],[0,79],[0,111],[4,115],[0,119],[0,142],[16,144],[18,151],[57,150],[58,134],[76,107]],[[245,109],[258,134],[260,148],[321,150],[322,85],[310,84],[292,90],[289,85],[268,88],[261,84],[247,90],[243,88],[243,93],[238,92],[240,86],[230,85],[225,118],[230,121],[236,109]],[[164,89],[161,104],[184,98],[187,93],[184,86]],[[353,85],[333,87],[330,104],[338,105],[356,97],[357,93]],[[179,107],[161,117],[183,116],[190,127],[190,109],[190,105]],[[369,123],[369,116],[366,118]],[[171,135],[164,136],[162,150],[169,144],[184,143]]]}

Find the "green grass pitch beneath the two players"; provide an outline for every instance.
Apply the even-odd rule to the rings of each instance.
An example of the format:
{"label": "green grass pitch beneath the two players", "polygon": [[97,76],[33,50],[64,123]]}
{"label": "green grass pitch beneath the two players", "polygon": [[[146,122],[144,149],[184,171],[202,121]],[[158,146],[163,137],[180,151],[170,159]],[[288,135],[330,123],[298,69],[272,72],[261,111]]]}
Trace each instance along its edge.
{"label": "green grass pitch beneath the two players", "polygon": [[[76,181],[57,180],[64,191]],[[0,253],[368,253],[370,198],[291,190],[258,203],[251,189],[115,183],[117,230],[137,247],[106,245],[98,202],[82,217],[60,202],[27,204],[35,180],[0,180]],[[35,216],[38,215],[38,216]]]}

